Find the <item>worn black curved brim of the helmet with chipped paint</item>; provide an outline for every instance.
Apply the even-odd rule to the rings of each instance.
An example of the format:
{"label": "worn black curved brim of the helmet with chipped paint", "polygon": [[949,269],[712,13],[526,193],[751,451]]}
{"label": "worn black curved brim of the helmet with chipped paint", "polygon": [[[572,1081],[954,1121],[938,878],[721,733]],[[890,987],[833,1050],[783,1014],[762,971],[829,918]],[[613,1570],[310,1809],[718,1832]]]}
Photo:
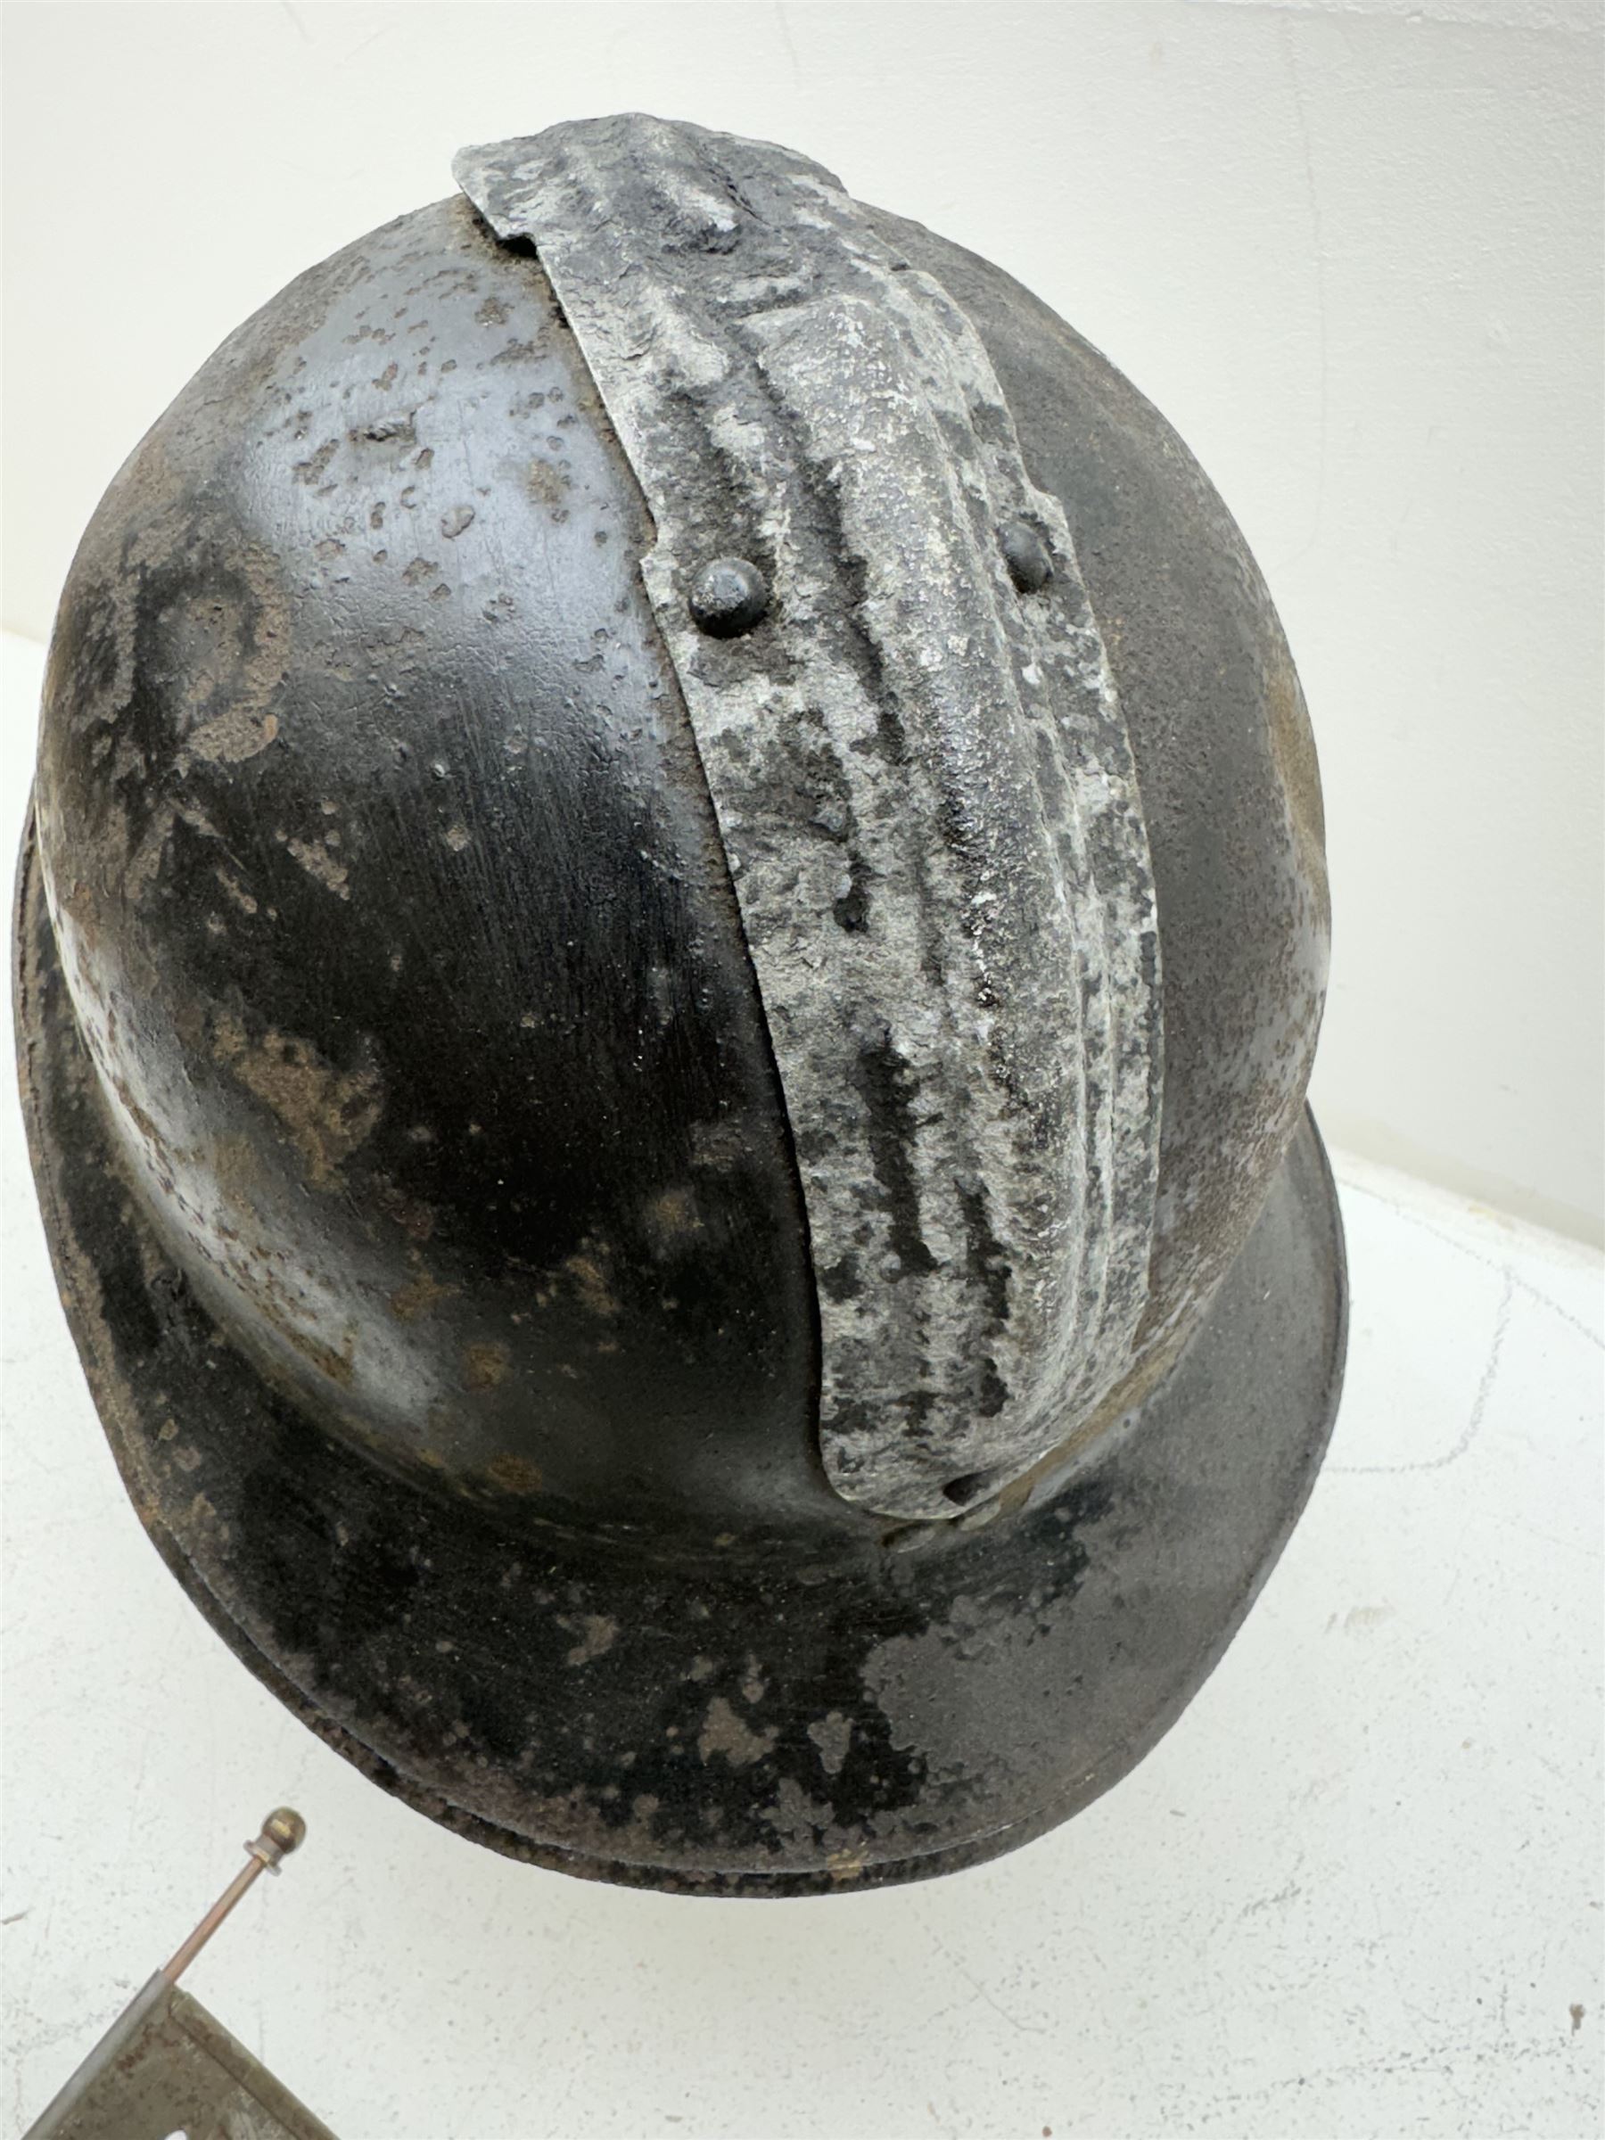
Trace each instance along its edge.
{"label": "worn black curved brim of the helmet with chipped paint", "polygon": [[24,1109],[56,1278],[126,1489],[229,1648],[374,1783],[533,1864],[817,1894],[978,1864],[1124,1776],[1275,1564],[1338,1408],[1346,1275],[1305,1115],[1130,1430],[920,1552],[668,1560],[514,1539],[297,1412],[143,1220],[32,856]]}

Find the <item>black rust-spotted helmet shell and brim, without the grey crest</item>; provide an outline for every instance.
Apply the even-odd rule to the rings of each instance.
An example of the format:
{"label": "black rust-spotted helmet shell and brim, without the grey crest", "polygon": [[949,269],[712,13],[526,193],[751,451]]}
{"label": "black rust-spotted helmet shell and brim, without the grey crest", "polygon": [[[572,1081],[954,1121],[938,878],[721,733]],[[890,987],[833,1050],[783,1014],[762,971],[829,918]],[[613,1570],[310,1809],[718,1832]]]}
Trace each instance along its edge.
{"label": "black rust-spotted helmet shell and brim, without the grey crest", "polygon": [[[1113,1783],[1275,1560],[1342,1367],[1318,790],[1269,599],[1102,357],[858,214],[984,347],[1051,565],[1029,588],[999,535],[987,599],[1074,563],[1158,899],[1143,1323],[1002,1496],[901,1522],[826,1470],[811,1124],[651,514],[541,261],[464,201],[302,276],[120,473],[19,899],[62,1297],[190,1596],[434,1819],[702,1894],[920,1877]],[[698,661],[790,629],[738,535],[706,559],[773,614]],[[899,1132],[888,1194],[907,1164]]]}

